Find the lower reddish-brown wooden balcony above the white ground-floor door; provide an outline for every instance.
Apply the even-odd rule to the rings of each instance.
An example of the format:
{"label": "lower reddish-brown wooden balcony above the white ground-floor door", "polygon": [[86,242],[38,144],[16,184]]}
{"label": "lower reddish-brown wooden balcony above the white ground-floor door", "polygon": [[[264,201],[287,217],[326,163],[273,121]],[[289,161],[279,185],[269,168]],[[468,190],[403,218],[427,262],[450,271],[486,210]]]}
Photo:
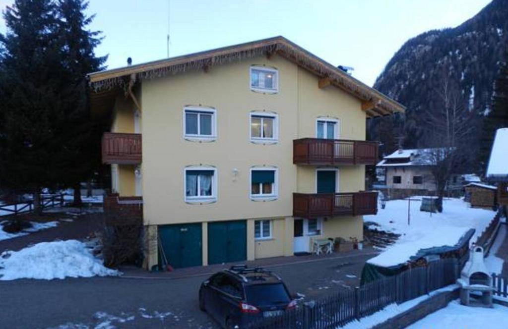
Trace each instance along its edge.
{"label": "lower reddish-brown wooden balcony above the white ground-floor door", "polygon": [[377,192],[293,193],[293,216],[304,218],[375,215]]}

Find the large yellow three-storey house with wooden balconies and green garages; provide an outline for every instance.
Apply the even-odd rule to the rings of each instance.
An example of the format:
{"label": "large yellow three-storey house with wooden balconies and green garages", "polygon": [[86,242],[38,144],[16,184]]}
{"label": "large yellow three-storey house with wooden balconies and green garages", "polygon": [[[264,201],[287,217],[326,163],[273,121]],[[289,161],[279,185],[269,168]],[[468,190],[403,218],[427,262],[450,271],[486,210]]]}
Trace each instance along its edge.
{"label": "large yellow three-storey house with wooden balconies and green garages", "polygon": [[88,78],[92,113],[113,118],[106,211],[142,202],[149,268],[158,239],[173,267],[363,239],[366,119],[404,111],[384,94],[282,37]]}

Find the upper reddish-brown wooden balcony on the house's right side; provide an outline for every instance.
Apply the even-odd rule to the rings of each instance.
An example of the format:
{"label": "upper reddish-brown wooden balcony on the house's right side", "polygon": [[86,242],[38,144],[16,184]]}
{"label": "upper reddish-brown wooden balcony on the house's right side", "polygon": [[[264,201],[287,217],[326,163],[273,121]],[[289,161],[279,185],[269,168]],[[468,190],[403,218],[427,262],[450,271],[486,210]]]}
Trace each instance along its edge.
{"label": "upper reddish-brown wooden balcony on the house's right side", "polygon": [[313,166],[376,164],[378,142],[302,138],[293,141],[293,163]]}

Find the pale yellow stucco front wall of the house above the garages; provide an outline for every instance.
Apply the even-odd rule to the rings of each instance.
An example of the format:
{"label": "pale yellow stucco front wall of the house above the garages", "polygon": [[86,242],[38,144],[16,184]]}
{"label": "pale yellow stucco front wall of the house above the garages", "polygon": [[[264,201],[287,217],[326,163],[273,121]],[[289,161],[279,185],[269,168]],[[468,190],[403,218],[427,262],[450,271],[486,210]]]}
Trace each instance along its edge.
{"label": "pale yellow stucco front wall of the house above the garages", "polygon": [[[277,94],[250,90],[251,64],[278,69]],[[360,101],[333,86],[319,89],[317,80],[297,65],[275,56],[217,65],[208,73],[187,72],[143,81],[145,223],[291,216],[292,193],[315,189],[314,169],[293,164],[293,140],[314,137],[315,120],[325,115],[340,120],[340,138],[365,139],[365,113]],[[198,143],[183,138],[186,105],[216,109],[214,142]],[[278,114],[277,144],[259,145],[249,141],[249,113],[253,110]],[[217,169],[216,203],[184,202],[183,172],[189,165]],[[279,196],[276,201],[253,202],[249,199],[249,169],[263,165],[278,168]],[[234,169],[238,170],[237,176],[233,175]],[[341,191],[363,189],[363,166],[340,170]]]}

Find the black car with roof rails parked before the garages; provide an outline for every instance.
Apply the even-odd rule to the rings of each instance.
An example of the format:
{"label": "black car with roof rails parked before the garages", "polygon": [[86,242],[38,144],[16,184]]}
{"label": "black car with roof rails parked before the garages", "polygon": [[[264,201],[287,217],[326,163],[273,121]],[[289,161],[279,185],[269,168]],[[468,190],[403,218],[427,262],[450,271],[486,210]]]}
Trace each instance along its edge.
{"label": "black car with roof rails parked before the garages", "polygon": [[212,275],[199,289],[199,308],[228,329],[280,315],[296,302],[277,274],[245,265]]}

